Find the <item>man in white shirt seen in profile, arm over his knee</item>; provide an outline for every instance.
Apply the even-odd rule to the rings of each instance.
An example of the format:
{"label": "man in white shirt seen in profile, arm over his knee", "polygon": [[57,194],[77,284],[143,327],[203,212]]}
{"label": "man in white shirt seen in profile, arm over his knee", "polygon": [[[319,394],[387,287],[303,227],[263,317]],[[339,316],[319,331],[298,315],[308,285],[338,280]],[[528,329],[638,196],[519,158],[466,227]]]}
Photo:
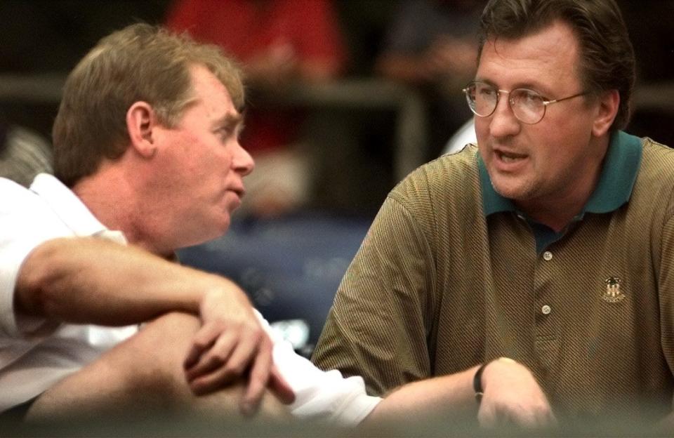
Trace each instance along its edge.
{"label": "man in white shirt seen in profile, arm over his knee", "polygon": [[362,378],[272,340],[232,281],[175,263],[225,233],[244,196],[243,102],[218,48],[150,25],[110,34],[71,72],[55,177],[0,178],[0,433],[145,412],[345,426],[459,413],[447,406],[470,389],[453,381],[369,397]]}

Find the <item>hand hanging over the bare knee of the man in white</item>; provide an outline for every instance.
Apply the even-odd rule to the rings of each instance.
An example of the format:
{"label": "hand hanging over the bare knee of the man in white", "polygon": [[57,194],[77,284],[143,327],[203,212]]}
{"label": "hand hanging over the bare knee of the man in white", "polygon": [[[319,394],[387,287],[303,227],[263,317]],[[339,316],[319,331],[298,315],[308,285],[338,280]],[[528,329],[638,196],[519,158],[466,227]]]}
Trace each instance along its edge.
{"label": "hand hanging over the bare knee of the man in white", "polygon": [[256,411],[267,385],[284,403],[294,394],[272,364],[272,340],[253,313],[245,294],[206,294],[200,306],[202,326],[185,359],[187,383],[195,394],[207,394],[247,373],[243,413]]}

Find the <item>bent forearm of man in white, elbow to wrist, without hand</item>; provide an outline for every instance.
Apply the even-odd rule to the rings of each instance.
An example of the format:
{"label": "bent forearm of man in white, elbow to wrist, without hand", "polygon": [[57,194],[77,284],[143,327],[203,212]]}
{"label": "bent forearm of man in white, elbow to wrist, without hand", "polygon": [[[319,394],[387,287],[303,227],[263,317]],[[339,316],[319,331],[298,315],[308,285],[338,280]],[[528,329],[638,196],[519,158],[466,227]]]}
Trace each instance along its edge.
{"label": "bent forearm of man in white, elbow to wrist, without hand", "polygon": [[231,284],[215,277],[101,239],[54,239],[22,265],[15,307],[72,323],[136,324],[169,311],[198,314],[204,293]]}

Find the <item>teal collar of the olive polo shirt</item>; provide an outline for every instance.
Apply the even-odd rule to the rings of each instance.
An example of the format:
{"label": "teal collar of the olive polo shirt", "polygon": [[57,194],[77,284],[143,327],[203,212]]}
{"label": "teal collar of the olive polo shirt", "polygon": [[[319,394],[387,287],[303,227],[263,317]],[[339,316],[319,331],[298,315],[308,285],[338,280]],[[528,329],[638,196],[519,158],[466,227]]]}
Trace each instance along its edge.
{"label": "teal collar of the olive polo shirt", "polygon": [[[604,167],[595,191],[590,195],[582,213],[609,213],[625,204],[632,194],[641,164],[641,139],[623,131],[617,131],[611,137]],[[517,211],[510,199],[496,193],[491,185],[487,167],[480,154],[477,154],[477,166],[482,185],[482,207],[484,215],[489,216],[503,211]]]}

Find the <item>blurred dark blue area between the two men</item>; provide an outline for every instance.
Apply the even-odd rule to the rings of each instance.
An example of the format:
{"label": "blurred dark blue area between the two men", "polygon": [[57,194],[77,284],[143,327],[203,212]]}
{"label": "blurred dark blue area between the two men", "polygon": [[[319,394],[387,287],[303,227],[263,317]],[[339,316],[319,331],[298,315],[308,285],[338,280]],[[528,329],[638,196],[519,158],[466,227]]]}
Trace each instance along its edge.
{"label": "blurred dark blue area between the two men", "polygon": [[224,237],[178,251],[184,265],[236,281],[270,322],[302,319],[309,354],[371,219],[301,213],[232,221]]}

